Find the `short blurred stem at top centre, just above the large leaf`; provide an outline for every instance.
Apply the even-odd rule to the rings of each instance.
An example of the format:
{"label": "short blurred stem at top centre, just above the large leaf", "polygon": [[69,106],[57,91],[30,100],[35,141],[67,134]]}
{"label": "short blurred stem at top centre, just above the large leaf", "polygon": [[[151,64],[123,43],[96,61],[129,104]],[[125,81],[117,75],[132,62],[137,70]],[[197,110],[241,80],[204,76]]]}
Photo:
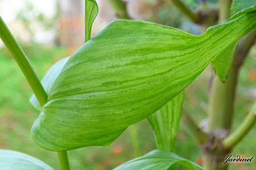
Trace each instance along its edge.
{"label": "short blurred stem at top centre, just above the large leaf", "polygon": [[121,0],[109,0],[109,3],[118,19],[130,19],[126,9],[126,2]]}

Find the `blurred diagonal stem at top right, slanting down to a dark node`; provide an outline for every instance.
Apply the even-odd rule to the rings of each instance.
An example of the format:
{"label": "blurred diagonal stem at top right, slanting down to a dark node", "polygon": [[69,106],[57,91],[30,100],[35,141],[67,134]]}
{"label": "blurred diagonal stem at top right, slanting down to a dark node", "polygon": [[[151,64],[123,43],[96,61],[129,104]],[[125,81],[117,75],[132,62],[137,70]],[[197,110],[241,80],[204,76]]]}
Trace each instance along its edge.
{"label": "blurred diagonal stem at top right, slanting down to a dark node", "polygon": [[172,3],[180,9],[181,12],[183,12],[184,15],[186,15],[189,19],[192,20],[192,22],[197,23],[199,21],[199,15],[197,15],[196,12],[193,12],[191,9],[189,9],[183,2],[180,0],[172,0]]}

